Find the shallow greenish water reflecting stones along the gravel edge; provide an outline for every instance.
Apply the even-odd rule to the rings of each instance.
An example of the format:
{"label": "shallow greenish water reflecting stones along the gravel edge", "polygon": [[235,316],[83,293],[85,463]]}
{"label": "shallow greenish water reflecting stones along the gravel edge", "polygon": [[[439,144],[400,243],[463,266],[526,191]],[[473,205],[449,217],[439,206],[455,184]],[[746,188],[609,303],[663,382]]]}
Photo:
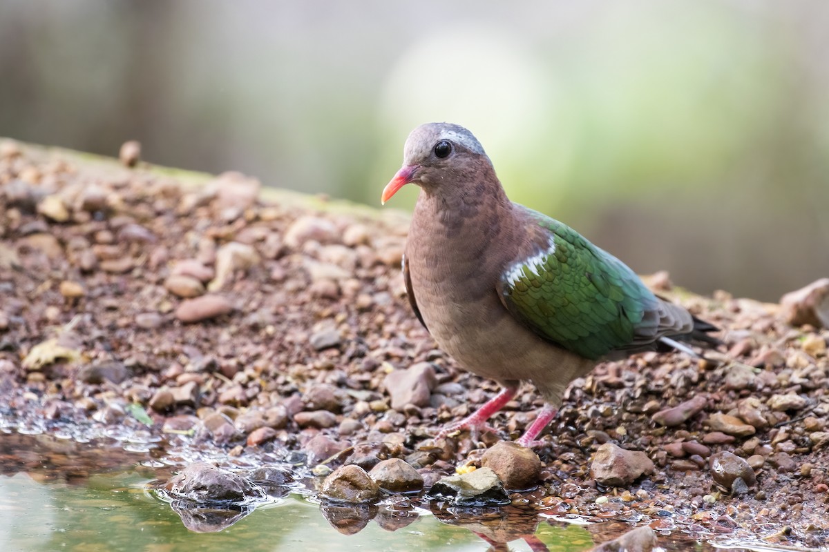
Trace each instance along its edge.
{"label": "shallow greenish water reflecting stones along the gravel edge", "polygon": [[[428,511],[400,497],[380,506],[321,507],[301,484],[255,509],[230,512],[230,518],[228,512],[219,512],[216,518],[201,520],[202,514],[193,511],[181,517],[182,512],[151,490],[153,479],[167,478],[172,468],[148,460],[146,451],[46,435],[0,433],[0,469],[2,552],[575,552],[628,529],[618,521],[585,524],[513,506]],[[197,532],[186,524],[221,530]],[[666,550],[713,550],[681,535],[667,540],[661,536],[659,544]]]}

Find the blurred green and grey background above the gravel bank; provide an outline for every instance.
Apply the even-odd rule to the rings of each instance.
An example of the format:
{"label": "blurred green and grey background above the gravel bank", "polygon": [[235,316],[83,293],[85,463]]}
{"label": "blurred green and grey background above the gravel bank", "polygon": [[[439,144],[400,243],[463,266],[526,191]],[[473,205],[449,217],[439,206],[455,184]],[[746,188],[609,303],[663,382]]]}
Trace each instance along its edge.
{"label": "blurred green and grey background above the gravel bank", "polygon": [[368,204],[411,128],[458,122],[636,271],[829,276],[824,0],[2,0],[0,79],[0,136]]}

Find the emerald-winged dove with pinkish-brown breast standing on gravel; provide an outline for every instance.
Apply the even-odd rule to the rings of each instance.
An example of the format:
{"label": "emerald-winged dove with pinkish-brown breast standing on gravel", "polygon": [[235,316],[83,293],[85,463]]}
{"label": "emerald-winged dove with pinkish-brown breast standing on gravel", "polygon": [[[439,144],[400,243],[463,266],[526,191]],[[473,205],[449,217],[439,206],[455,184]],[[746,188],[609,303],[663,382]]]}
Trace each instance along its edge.
{"label": "emerald-winged dove with pinkish-brown breast standing on gravel", "polygon": [[715,343],[717,329],[654,295],[623,262],[573,228],[507,198],[472,132],[415,128],[385,204],[419,186],[405,243],[410,305],[439,347],[469,372],[502,386],[441,432],[493,430],[487,420],[531,382],[545,404],[517,440],[534,447],[568,384],[597,363],[663,343]]}

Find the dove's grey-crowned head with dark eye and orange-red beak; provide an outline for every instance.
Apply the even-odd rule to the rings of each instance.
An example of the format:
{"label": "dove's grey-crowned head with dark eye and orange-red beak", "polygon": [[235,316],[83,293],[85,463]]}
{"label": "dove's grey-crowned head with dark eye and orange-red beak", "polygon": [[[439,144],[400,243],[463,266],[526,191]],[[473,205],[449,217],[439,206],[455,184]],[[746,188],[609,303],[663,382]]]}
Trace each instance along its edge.
{"label": "dove's grey-crowned head with dark eye and orange-red beak", "polygon": [[481,180],[482,171],[492,170],[492,161],[481,142],[466,128],[450,122],[427,122],[415,128],[403,148],[403,166],[385,185],[385,204],[409,183],[430,193],[465,194],[458,185]]}

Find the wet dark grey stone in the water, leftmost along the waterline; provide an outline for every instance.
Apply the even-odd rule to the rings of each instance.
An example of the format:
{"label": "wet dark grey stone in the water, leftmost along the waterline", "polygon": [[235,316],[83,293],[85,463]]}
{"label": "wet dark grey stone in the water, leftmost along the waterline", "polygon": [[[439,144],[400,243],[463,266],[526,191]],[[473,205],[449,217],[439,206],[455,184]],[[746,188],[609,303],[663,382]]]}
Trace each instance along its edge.
{"label": "wet dark grey stone in the water, leftmost along the waterline", "polygon": [[264,498],[264,492],[242,476],[203,462],[187,465],[164,488],[176,497],[201,504]]}

